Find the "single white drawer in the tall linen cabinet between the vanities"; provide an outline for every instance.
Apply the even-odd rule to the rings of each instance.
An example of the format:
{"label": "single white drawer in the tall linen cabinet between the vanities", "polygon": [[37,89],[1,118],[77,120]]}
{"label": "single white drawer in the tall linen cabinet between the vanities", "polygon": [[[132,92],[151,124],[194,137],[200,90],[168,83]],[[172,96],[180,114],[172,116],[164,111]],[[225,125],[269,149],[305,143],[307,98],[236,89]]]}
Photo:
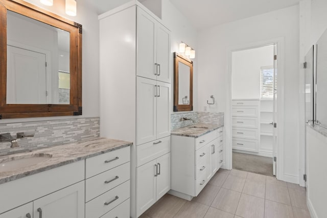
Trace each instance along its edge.
{"label": "single white drawer in the tall linen cabinet between the vanities", "polygon": [[136,146],[136,164],[141,166],[170,152],[170,136]]}

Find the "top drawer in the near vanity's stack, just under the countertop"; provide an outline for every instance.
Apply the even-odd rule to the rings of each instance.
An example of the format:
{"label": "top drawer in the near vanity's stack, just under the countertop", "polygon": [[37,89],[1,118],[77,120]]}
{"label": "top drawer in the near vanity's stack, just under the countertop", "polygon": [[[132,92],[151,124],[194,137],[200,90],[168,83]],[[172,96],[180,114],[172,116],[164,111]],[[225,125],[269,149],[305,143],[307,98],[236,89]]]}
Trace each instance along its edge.
{"label": "top drawer in the near vanity's stack, just under the countertop", "polygon": [[85,177],[90,178],[130,161],[130,147],[118,149],[85,160]]}

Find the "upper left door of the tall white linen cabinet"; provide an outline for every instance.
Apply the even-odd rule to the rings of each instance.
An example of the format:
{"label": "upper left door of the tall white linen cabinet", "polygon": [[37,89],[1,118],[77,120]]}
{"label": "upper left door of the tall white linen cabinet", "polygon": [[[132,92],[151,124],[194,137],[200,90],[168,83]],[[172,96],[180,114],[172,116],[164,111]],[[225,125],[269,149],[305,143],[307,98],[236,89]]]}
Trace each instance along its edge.
{"label": "upper left door of the tall white linen cabinet", "polygon": [[136,75],[155,80],[156,76],[156,20],[137,7],[137,70]]}

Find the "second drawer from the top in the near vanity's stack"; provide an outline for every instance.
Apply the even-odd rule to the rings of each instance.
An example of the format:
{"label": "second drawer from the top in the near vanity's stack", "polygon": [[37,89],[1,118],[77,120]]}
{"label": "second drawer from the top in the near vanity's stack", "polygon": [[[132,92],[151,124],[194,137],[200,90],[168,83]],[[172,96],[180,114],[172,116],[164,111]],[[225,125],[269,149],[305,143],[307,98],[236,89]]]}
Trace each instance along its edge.
{"label": "second drawer from the top in the near vanity's stack", "polygon": [[85,202],[100,196],[102,193],[129,180],[129,178],[130,162],[127,162],[87,179],[85,182]]}

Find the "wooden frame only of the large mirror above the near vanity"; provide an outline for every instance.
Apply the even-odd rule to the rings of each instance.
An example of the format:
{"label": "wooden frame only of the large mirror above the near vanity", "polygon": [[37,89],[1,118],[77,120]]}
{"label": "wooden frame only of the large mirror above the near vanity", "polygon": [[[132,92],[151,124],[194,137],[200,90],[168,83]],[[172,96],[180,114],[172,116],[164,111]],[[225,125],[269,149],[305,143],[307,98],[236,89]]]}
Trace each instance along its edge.
{"label": "wooden frame only of the large mirror above the near vanity", "polygon": [[[69,32],[69,104],[7,104],[7,10]],[[82,25],[22,0],[0,0],[0,119],[82,115]]]}

